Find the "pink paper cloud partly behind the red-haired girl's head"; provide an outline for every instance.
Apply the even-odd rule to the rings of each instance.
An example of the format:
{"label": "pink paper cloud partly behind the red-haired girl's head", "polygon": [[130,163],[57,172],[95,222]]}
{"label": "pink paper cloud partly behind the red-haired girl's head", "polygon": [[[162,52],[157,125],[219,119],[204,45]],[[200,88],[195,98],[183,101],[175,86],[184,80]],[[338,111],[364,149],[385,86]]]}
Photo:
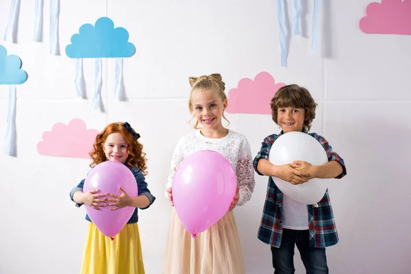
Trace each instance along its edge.
{"label": "pink paper cloud partly behind the red-haired girl's head", "polygon": [[86,129],[81,119],[73,119],[69,125],[56,123],[51,132],[43,133],[37,151],[41,155],[88,159],[97,134],[96,129]]}

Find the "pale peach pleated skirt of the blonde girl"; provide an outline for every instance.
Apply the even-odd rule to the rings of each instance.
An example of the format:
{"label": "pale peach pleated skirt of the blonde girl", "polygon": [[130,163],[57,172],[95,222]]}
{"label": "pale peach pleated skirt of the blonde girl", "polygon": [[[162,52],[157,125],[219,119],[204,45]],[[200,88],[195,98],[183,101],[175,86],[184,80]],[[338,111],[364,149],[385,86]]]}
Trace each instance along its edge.
{"label": "pale peach pleated skirt of the blonde girl", "polygon": [[245,274],[232,211],[195,238],[184,229],[174,208],[171,214],[163,274]]}

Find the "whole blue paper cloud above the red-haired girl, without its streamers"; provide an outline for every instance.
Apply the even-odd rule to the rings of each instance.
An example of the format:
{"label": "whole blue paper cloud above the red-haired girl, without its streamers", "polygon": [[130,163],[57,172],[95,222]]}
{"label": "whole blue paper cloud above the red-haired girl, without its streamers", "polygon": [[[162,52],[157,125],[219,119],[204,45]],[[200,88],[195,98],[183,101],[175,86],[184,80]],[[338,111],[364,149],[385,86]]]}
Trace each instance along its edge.
{"label": "whole blue paper cloud above the red-haired girl, without its streamers", "polygon": [[84,24],[79,33],[71,36],[71,45],[66,47],[69,58],[126,58],[136,51],[131,42],[127,42],[129,33],[123,27],[114,29],[113,21],[101,17],[95,26]]}

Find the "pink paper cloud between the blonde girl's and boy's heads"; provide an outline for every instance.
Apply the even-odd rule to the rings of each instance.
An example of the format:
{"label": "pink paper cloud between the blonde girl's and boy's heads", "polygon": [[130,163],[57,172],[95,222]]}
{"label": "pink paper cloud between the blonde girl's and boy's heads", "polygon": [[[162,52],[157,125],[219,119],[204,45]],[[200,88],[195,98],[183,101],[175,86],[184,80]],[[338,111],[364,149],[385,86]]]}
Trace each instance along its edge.
{"label": "pink paper cloud between the blonde girl's and boy's heads", "polygon": [[227,112],[271,114],[271,98],[282,86],[286,84],[275,84],[274,77],[265,71],[258,73],[254,80],[243,78],[238,82],[238,88],[228,92]]}

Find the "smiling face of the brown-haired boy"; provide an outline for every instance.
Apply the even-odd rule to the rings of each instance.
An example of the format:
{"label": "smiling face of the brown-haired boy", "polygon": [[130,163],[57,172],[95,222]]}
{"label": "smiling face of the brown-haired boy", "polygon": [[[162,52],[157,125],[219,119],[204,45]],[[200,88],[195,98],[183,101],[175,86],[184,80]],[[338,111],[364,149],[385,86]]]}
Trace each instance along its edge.
{"label": "smiling face of the brown-haired boy", "polygon": [[284,133],[302,132],[306,111],[303,108],[278,108],[277,123]]}

